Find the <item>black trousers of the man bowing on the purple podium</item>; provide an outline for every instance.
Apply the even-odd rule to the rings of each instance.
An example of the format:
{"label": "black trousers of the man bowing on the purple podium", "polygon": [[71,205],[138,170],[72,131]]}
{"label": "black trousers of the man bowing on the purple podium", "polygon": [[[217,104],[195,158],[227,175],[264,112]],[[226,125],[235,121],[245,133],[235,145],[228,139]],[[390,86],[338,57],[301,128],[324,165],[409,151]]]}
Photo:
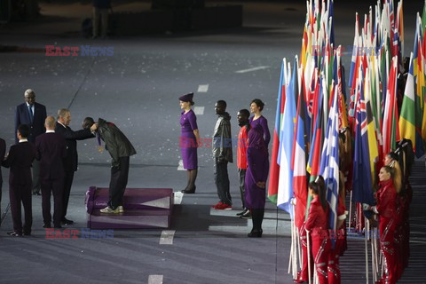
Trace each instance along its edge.
{"label": "black trousers of the man bowing on the purple podium", "polygon": [[126,190],[129,178],[130,157],[120,157],[118,167],[111,168],[111,180],[109,182],[108,205],[116,209],[122,205],[122,196]]}

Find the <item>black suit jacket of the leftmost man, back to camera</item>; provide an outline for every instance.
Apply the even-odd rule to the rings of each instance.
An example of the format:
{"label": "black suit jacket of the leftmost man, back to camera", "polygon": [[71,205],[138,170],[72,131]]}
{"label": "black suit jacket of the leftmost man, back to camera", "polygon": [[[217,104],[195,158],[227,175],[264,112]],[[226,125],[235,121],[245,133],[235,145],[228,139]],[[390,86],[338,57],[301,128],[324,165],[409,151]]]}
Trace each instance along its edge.
{"label": "black suit jacket of the leftmost man, back to camera", "polygon": [[36,146],[31,142],[20,142],[12,145],[7,159],[2,162],[6,168],[11,168],[9,185],[31,185],[31,164],[36,158]]}

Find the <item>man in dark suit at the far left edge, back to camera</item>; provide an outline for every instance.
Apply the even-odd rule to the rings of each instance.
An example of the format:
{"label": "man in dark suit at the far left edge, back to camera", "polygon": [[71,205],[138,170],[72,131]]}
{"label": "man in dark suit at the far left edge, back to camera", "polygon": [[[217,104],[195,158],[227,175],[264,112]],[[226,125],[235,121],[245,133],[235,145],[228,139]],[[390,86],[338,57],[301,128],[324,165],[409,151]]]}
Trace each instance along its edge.
{"label": "man in dark suit at the far left edge, back to camera", "polygon": [[7,158],[2,162],[4,167],[11,168],[9,173],[9,197],[11,200],[13,232],[8,234],[12,237],[20,237],[22,235],[21,202],[25,212],[24,235],[31,234],[31,225],[33,224],[31,164],[36,157],[36,146],[28,142],[28,135],[29,127],[27,124],[18,126],[17,137],[19,138],[19,144],[11,146]]}

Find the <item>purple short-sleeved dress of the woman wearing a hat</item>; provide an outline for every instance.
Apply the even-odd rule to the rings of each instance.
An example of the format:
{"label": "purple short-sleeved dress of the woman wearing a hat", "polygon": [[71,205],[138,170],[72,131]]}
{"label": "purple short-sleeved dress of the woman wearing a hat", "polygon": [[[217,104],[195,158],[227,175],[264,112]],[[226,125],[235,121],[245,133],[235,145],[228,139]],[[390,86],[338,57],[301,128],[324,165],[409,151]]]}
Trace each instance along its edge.
{"label": "purple short-sleeved dress of the woman wearing a hat", "polygon": [[185,114],[180,115],[181,135],[179,138],[179,146],[184,161],[185,170],[198,169],[197,141],[193,130],[198,130],[197,117],[191,109]]}

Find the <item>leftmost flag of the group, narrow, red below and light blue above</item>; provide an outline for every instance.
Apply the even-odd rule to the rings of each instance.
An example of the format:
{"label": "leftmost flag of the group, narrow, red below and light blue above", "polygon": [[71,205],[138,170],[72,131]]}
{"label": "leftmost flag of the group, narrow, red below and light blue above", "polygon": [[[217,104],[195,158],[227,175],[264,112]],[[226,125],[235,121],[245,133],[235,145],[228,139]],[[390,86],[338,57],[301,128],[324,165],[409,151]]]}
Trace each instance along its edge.
{"label": "leftmost flag of the group, narrow, red below and light blue above", "polygon": [[280,147],[280,124],[281,118],[284,113],[284,104],[286,101],[286,59],[282,59],[281,74],[280,74],[280,85],[278,88],[278,99],[277,99],[277,112],[275,114],[275,128],[273,130],[272,140],[272,159],[271,168],[269,171],[269,186],[268,186],[268,198],[273,203],[277,203],[278,194],[278,178],[280,176],[280,165],[278,161],[278,152]]}

